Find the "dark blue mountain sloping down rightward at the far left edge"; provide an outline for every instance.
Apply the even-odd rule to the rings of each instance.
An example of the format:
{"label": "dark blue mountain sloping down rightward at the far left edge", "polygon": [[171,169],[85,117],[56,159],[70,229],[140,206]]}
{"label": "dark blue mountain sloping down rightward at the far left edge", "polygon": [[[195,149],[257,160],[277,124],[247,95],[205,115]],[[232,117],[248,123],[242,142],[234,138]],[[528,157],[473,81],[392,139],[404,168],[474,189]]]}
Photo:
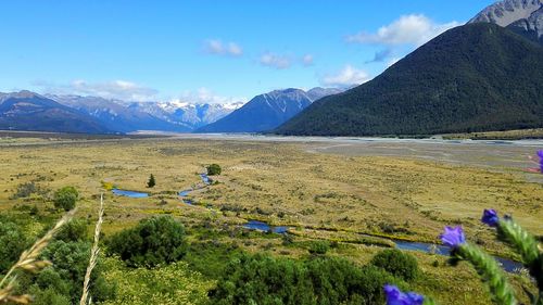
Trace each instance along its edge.
{"label": "dark blue mountain sloping down rightward at the far left edge", "polygon": [[0,94],[0,129],[111,134],[94,117],[30,91]]}

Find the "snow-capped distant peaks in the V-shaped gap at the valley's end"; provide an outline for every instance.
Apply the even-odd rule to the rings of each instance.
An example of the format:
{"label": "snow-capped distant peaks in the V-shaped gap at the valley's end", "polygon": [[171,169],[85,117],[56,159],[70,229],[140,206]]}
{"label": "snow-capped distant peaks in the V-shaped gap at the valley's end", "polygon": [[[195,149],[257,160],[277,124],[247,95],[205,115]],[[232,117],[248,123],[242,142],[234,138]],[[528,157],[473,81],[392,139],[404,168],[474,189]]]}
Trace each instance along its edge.
{"label": "snow-capped distant peaks in the V-shaped gap at the valley's end", "polygon": [[130,110],[151,114],[164,122],[184,126],[190,130],[214,123],[241,107],[242,102],[211,104],[187,102],[132,102],[125,103]]}

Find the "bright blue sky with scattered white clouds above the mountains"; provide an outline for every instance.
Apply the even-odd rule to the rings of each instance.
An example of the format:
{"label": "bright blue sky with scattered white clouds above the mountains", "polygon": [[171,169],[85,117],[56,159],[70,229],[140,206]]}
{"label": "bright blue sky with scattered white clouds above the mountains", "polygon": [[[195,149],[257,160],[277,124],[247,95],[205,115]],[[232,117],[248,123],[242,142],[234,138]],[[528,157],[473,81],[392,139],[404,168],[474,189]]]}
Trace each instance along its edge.
{"label": "bright blue sky with scattered white clouds above the mountains", "polygon": [[0,91],[229,102],[350,86],[492,2],[7,0]]}

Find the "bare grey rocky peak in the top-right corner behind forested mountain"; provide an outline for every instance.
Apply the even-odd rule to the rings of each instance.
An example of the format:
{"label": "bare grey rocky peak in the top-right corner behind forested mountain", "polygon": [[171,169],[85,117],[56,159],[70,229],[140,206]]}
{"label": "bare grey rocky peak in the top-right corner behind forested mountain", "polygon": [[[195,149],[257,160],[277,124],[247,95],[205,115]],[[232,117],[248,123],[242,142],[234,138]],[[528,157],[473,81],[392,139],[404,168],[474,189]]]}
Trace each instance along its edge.
{"label": "bare grey rocky peak in the top-right corner behind forested mountain", "polygon": [[469,23],[494,23],[543,45],[543,0],[498,1]]}

